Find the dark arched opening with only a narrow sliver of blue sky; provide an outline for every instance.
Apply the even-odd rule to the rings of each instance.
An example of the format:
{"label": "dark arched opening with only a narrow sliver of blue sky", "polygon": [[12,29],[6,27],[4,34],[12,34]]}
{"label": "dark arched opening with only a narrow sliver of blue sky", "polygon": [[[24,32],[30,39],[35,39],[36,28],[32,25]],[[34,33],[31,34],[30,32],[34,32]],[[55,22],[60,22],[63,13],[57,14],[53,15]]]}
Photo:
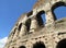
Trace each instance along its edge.
{"label": "dark arched opening with only a narrow sliver of blue sky", "polygon": [[37,14],[36,14],[36,20],[37,20],[37,24],[40,26],[44,26],[45,24],[45,12],[44,11],[40,11]]}

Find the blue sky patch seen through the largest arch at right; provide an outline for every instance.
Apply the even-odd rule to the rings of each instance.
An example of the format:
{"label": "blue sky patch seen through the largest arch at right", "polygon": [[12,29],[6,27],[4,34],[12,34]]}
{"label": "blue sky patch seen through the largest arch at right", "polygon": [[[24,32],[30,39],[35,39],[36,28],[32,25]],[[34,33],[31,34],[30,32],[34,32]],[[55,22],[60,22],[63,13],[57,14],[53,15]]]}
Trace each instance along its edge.
{"label": "blue sky patch seen through the largest arch at right", "polygon": [[66,7],[59,7],[57,9],[54,10],[54,13],[58,19],[62,19],[62,17],[66,17]]}

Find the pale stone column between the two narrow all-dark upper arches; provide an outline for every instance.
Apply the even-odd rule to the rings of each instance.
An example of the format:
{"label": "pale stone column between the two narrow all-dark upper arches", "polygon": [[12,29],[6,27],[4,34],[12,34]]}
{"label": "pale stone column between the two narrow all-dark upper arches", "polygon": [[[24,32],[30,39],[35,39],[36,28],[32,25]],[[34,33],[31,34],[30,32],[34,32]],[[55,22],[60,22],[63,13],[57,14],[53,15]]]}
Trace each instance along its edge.
{"label": "pale stone column between the two narrow all-dark upper arches", "polygon": [[28,20],[28,16],[24,15],[24,19],[22,19],[22,21],[21,21],[22,26],[21,26],[21,31],[19,33],[19,37],[22,37],[26,33],[26,26],[25,26],[26,20]]}

